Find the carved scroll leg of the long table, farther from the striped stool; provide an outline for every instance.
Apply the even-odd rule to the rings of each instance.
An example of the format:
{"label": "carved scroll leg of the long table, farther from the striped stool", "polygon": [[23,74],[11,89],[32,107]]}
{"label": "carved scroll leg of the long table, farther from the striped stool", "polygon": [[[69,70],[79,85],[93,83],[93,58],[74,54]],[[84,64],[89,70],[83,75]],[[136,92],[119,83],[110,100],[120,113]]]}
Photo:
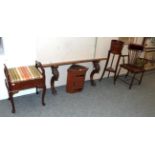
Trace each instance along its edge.
{"label": "carved scroll leg of the long table, farther from the striped stool", "polygon": [[94,70],[90,74],[90,82],[92,86],[95,86],[96,84],[93,78],[94,78],[94,74],[99,73],[100,71],[99,61],[93,61],[93,66],[94,66]]}

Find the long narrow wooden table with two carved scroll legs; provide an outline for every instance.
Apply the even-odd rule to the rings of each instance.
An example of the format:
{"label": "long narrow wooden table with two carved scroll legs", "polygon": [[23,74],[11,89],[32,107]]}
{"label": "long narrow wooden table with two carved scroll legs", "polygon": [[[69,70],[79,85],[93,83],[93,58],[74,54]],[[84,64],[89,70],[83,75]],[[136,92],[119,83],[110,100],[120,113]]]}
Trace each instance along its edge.
{"label": "long narrow wooden table with two carved scroll legs", "polygon": [[92,62],[94,69],[90,74],[90,82],[91,82],[92,86],[95,86],[96,84],[95,84],[95,81],[94,81],[94,74],[99,73],[99,71],[100,71],[99,62],[103,61],[103,60],[107,60],[107,58],[85,59],[85,60],[75,60],[75,61],[66,61],[66,62],[43,64],[43,67],[45,67],[45,68],[50,67],[51,70],[52,70],[52,74],[53,74],[53,76],[51,77],[51,91],[52,91],[52,94],[53,95],[57,94],[57,91],[55,89],[55,81],[58,81],[58,79],[59,79],[59,71],[58,71],[59,66]]}

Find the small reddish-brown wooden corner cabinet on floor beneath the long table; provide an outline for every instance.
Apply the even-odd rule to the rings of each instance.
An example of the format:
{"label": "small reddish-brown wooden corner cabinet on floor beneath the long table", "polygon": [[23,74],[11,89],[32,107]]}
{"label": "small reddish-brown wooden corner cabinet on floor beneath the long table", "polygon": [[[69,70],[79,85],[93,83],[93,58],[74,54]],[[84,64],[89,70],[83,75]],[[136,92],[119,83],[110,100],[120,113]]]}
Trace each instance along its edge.
{"label": "small reddish-brown wooden corner cabinet on floor beneath the long table", "polygon": [[79,92],[83,89],[87,70],[88,68],[79,65],[72,65],[68,69],[66,86],[66,91],[68,93]]}

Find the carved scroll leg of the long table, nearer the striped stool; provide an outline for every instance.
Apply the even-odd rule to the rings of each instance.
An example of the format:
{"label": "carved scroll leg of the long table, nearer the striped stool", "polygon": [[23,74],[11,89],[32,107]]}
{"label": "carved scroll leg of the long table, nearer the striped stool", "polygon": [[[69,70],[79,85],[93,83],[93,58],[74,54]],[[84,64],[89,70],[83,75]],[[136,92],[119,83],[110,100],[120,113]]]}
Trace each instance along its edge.
{"label": "carved scroll leg of the long table, nearer the striped stool", "polygon": [[57,81],[59,78],[58,66],[52,66],[51,69],[52,69],[52,74],[53,74],[51,78],[51,91],[53,95],[56,95],[57,91],[55,89],[54,82]]}

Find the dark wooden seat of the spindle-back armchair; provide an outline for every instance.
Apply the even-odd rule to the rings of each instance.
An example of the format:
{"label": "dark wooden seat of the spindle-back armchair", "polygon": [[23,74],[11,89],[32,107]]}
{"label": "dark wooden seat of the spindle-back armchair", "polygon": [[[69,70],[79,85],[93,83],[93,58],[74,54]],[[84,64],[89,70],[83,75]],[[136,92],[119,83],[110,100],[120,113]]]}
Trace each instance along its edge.
{"label": "dark wooden seat of the spindle-back armchair", "polygon": [[137,67],[135,65],[132,65],[132,64],[121,64],[120,65],[121,67],[129,70],[130,72],[133,72],[133,73],[140,73],[140,72],[144,72],[144,68],[142,67]]}

